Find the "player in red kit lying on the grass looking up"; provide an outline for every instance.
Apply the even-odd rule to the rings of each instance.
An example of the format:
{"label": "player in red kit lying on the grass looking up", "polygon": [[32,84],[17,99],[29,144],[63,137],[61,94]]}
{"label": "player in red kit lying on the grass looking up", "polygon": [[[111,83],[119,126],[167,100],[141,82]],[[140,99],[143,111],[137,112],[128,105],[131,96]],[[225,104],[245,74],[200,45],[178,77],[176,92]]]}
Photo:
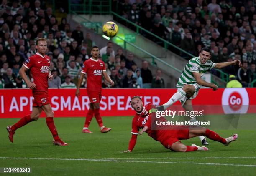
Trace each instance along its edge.
{"label": "player in red kit lying on the grass looking up", "polygon": [[[156,141],[159,141],[165,148],[172,151],[206,151],[208,150],[205,146],[196,146],[192,144],[191,146],[186,146],[182,144],[179,140],[190,139],[196,136],[204,135],[207,138],[223,143],[228,146],[230,142],[235,141],[238,138],[237,134],[234,134],[228,138],[222,138],[214,131],[211,131],[207,128],[197,126],[193,129],[191,126],[175,126],[176,128],[168,130],[160,128],[159,130],[152,130],[151,124],[154,123],[154,117],[156,116],[156,106],[152,104],[147,104],[143,106],[143,102],[139,96],[134,96],[131,99],[131,106],[136,111],[136,114],[132,122],[132,137],[129,143],[127,151],[131,152],[136,144],[138,134],[142,134],[144,131],[148,133],[148,136],[153,138]],[[163,121],[166,121],[161,117]],[[172,128],[172,126],[169,126]],[[139,132],[139,129],[142,129]]]}

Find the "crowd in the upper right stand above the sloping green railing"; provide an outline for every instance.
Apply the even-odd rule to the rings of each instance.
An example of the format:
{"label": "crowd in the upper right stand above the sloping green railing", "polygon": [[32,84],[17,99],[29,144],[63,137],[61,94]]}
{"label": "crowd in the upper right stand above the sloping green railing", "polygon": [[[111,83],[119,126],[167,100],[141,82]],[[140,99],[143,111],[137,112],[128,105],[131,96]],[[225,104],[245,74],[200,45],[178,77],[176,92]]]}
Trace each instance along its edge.
{"label": "crowd in the upper right stand above the sloping green railing", "polygon": [[[256,10],[253,0],[114,0],[117,13],[183,50],[198,56],[211,49],[214,63],[241,60],[241,68],[223,71],[236,75],[244,87],[256,79]],[[117,19],[118,20],[118,19]],[[122,23],[122,21],[120,21]],[[135,28],[131,25],[131,29]],[[159,45],[163,42],[141,31]],[[190,59],[175,48],[172,52]],[[220,73],[213,70],[213,74]]]}

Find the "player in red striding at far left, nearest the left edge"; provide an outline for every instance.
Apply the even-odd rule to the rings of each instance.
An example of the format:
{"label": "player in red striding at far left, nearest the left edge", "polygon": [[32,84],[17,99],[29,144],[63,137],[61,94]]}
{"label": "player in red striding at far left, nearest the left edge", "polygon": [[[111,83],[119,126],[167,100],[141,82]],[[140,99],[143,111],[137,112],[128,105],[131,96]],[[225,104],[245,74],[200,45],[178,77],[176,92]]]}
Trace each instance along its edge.
{"label": "player in red striding at far left, nearest the left edge", "polygon": [[[53,121],[54,112],[52,111],[48,96],[48,79],[52,80],[53,75],[51,75],[50,71],[51,60],[49,56],[45,55],[47,50],[45,38],[38,38],[36,40],[36,49],[37,53],[29,57],[19,71],[20,76],[26,82],[27,86],[32,89],[34,97],[33,110],[31,114],[21,118],[20,121],[15,123],[13,126],[7,126],[9,139],[13,142],[13,135],[15,134],[15,131],[31,121],[38,120],[41,112],[44,111],[46,113],[46,124],[54,138],[54,145],[67,146],[68,144],[64,143],[59,138]],[[26,71],[28,69],[31,70],[33,75],[33,83],[27,78]]]}

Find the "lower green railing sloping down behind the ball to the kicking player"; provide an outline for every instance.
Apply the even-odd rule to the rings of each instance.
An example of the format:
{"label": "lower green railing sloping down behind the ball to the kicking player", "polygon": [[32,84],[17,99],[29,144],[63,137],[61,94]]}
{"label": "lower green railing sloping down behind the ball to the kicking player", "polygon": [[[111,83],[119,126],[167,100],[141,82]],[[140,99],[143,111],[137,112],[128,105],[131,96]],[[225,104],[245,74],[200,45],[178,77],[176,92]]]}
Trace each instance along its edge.
{"label": "lower green railing sloping down behind the ball to the kicking player", "polygon": [[[71,12],[72,14],[74,14],[74,15],[79,16],[79,17],[82,18],[83,20],[86,20],[87,22],[93,23],[92,21],[88,20],[87,18],[84,18],[82,15],[79,15],[79,14],[77,14],[76,12],[74,12],[74,11],[72,11],[72,10],[71,10],[70,12]],[[95,32],[96,32],[97,34],[102,34],[102,30],[101,30],[101,29],[102,29],[102,26],[100,26],[99,24],[96,24],[96,31],[95,31]],[[151,61],[152,65],[154,65],[154,64],[155,64],[155,60],[157,60],[157,61],[163,63],[164,65],[167,65],[169,68],[171,68],[171,69],[173,69],[173,70],[175,70],[175,71],[177,71],[177,72],[179,72],[179,73],[182,73],[181,70],[175,68],[174,66],[170,65],[169,63],[166,63],[165,61],[161,60],[160,58],[156,57],[155,55],[152,55],[151,53],[148,53],[146,50],[143,50],[143,49],[140,48],[139,46],[137,46],[137,45],[135,45],[135,44],[133,44],[133,43],[131,43],[131,42],[129,42],[129,41],[123,39],[123,38],[120,38],[118,35],[115,36],[115,37],[116,37],[116,38],[119,38],[120,40],[122,40],[122,41],[124,42],[124,49],[126,49],[126,45],[128,44],[128,45],[131,45],[131,46],[133,46],[134,48],[140,50],[141,52],[147,54],[149,57],[151,57],[151,58],[152,58],[152,61]]]}

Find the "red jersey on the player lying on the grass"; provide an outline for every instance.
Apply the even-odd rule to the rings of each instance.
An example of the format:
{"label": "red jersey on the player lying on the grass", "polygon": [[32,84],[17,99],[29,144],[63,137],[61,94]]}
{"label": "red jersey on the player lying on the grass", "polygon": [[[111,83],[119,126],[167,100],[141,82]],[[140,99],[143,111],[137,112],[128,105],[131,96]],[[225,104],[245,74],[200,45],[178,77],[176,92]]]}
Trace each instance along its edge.
{"label": "red jersey on the player lying on the grass", "polygon": [[[138,135],[139,130],[144,128],[146,124],[146,126],[148,126],[148,130],[145,132],[148,133],[148,136],[154,140],[162,141],[168,137],[166,136],[166,130],[151,130],[151,118],[149,117],[151,116],[152,112],[156,111],[156,106],[149,103],[143,107],[143,111],[141,113],[136,113],[136,115],[133,117],[131,133]],[[153,114],[155,116],[155,113]]]}

